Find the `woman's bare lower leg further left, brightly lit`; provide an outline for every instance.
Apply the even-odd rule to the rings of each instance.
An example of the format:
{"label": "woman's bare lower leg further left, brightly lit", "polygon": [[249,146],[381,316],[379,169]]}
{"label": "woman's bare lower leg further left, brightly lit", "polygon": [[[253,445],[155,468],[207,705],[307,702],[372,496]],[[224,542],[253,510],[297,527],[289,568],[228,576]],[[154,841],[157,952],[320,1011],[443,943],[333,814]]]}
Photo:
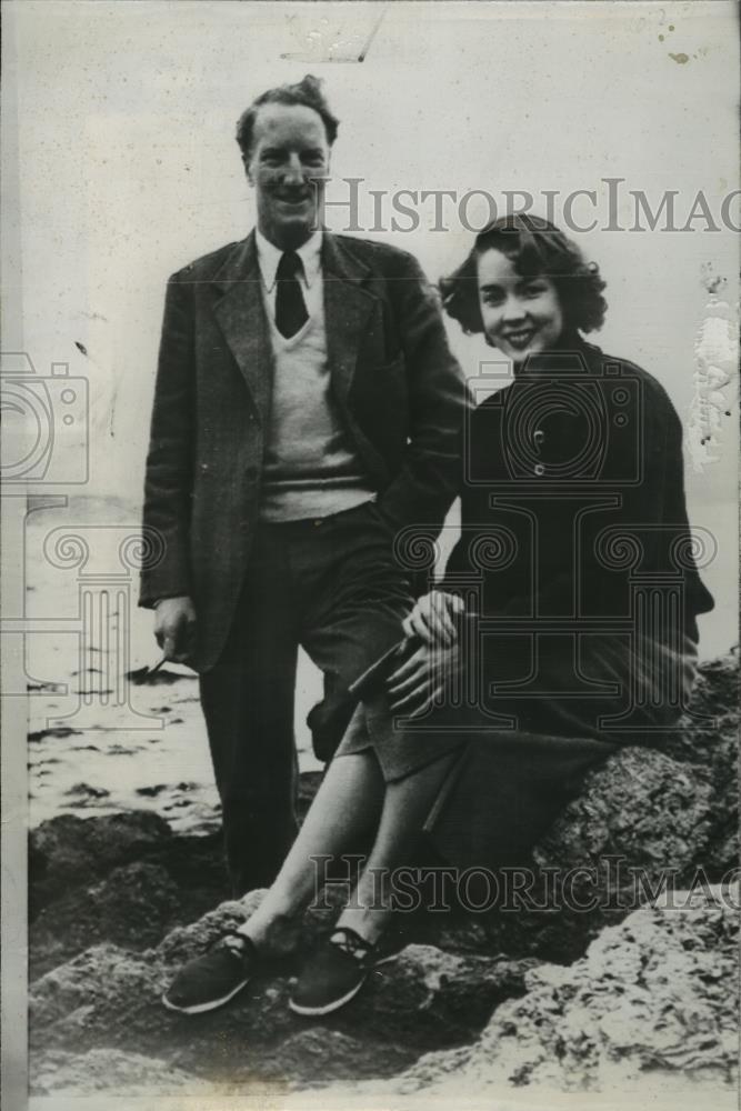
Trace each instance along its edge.
{"label": "woman's bare lower leg further left, brightly lit", "polygon": [[298,915],[314,893],[317,871],[311,858],[339,855],[372,832],[381,814],[383,790],[372,750],[333,760],[280,872],[240,932],[263,950],[290,949],[300,928]]}

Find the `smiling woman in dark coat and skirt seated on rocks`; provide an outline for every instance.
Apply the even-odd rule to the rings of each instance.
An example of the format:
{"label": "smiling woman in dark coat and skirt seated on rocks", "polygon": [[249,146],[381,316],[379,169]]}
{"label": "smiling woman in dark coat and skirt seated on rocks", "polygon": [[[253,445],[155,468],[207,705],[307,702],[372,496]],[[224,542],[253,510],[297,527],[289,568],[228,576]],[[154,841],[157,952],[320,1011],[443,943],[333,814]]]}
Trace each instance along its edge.
{"label": "smiling woman in dark coat and skirt seated on rocks", "polygon": [[[602,323],[603,289],[572,242],[528,216],[481,231],[441,282],[448,313],[501,352],[470,379],[488,396],[467,430],[460,540],[399,655],[361,688],[274,883],[181,970],[169,1008],[219,1007],[290,951],[316,861],[364,841],[352,895],[290,1000],[301,1014],[336,1010],[388,955],[393,908],[378,878],[421,838],[458,868],[521,860],[589,768],[619,745],[660,744],[685,709],[697,615],[713,603],[687,519],[682,430],[647,371],[581,338]],[[508,362],[492,393],[488,372],[501,387]],[[384,700],[400,715],[392,731],[379,725]]]}

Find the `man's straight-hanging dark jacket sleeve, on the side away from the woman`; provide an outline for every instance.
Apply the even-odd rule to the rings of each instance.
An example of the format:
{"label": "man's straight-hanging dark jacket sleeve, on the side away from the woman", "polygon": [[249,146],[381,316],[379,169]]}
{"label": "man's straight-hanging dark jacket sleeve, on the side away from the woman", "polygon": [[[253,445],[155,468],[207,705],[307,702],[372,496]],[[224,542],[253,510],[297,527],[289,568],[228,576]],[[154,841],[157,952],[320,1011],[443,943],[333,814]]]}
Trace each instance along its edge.
{"label": "man's straight-hanging dark jacket sleeve, on the side away from the woman", "polygon": [[193,451],[193,359],[189,282],[168,282],[144,479],[147,549],[139,604],[190,594],[189,529]]}

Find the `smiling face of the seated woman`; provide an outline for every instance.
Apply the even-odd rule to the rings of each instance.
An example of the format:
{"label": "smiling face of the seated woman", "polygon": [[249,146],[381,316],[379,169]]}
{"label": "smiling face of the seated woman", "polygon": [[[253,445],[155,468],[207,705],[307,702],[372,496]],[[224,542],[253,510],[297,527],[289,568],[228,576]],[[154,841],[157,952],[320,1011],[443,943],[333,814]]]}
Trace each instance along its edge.
{"label": "smiling face of the seated woman", "polygon": [[563,313],[550,278],[523,278],[505,254],[490,248],[478,258],[478,279],[487,339],[515,366],[555,346]]}

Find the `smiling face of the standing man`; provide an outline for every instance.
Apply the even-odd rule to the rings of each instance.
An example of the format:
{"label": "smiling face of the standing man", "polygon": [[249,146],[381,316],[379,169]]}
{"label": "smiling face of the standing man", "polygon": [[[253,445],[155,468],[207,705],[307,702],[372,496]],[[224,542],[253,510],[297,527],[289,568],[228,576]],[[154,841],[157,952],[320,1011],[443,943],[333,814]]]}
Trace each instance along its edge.
{"label": "smiling face of the standing man", "polygon": [[257,191],[258,228],[281,250],[294,250],[317,230],[327,177],[329,146],[324,123],[303,104],[258,109],[247,177]]}

